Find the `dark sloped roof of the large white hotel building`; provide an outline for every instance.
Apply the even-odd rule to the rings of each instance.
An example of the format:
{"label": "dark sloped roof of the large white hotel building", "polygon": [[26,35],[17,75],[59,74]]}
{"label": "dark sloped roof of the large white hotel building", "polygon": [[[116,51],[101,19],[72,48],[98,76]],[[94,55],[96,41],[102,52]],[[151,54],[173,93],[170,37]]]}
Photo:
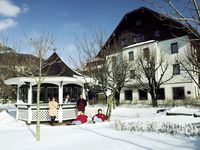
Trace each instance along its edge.
{"label": "dark sloped roof of the large white hotel building", "polygon": [[[146,18],[146,20],[150,20],[150,21],[158,20],[160,23],[159,24],[160,26],[167,27],[170,30],[170,32],[172,32],[171,36],[176,35],[176,34],[173,35],[174,31],[177,33],[176,36],[183,36],[183,35],[190,34],[189,32],[187,32],[186,27],[181,22],[173,20],[167,16],[164,16],[164,15],[162,15],[156,11],[153,11],[151,9],[148,9],[146,7],[140,7],[138,9],[135,9],[131,12],[126,13],[123,16],[123,18],[120,20],[119,24],[116,26],[116,28],[114,29],[114,31],[112,32],[110,37],[107,39],[103,48],[100,50],[97,57],[101,55],[101,52],[105,47],[112,44],[113,39],[117,39],[120,36],[120,34],[123,33],[124,31],[133,32],[133,33],[134,33],[134,31],[139,32],[139,30],[137,30],[137,28],[134,27],[134,24],[136,21],[135,19],[138,19],[138,17],[144,17],[144,14],[145,15],[148,14],[148,17],[152,18],[152,19]],[[150,25],[151,25],[150,22],[149,22],[149,24],[148,23],[145,24],[145,26],[143,28],[143,32],[146,32],[146,28],[150,28]],[[152,31],[153,31],[153,29],[152,29]],[[167,30],[165,32],[167,32]],[[148,39],[148,40],[158,40],[158,39],[152,38],[152,39]]]}

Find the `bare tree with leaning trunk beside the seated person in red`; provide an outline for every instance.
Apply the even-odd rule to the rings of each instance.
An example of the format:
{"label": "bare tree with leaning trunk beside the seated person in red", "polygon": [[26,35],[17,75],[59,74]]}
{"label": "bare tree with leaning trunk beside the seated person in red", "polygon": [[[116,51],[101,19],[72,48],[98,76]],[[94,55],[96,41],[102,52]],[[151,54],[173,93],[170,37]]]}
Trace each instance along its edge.
{"label": "bare tree with leaning trunk beside the seated person in red", "polygon": [[[116,49],[115,49],[116,50]],[[107,116],[111,117],[112,108],[120,104],[120,92],[125,83],[128,82],[130,64],[123,57],[123,49],[119,49],[114,55],[107,57],[108,70],[107,75],[107,89],[111,91],[108,98]]]}

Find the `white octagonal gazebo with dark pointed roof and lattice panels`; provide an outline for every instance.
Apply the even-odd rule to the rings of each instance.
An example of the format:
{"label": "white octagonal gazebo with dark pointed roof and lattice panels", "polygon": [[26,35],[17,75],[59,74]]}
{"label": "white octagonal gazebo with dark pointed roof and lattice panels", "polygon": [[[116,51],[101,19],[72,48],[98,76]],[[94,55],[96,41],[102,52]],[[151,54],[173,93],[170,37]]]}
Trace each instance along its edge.
{"label": "white octagonal gazebo with dark pointed roof and lattice panels", "polygon": [[[85,78],[80,73],[69,68],[54,52],[46,61],[40,92],[40,121],[49,121],[48,98],[54,96],[59,103],[56,120],[61,123],[74,119],[77,115],[76,100],[82,93],[85,97],[84,85],[91,78]],[[5,80],[7,85],[17,86],[16,120],[24,120],[28,124],[37,120],[36,97],[37,77],[15,77]],[[72,102],[64,103],[64,97],[69,94]]]}

